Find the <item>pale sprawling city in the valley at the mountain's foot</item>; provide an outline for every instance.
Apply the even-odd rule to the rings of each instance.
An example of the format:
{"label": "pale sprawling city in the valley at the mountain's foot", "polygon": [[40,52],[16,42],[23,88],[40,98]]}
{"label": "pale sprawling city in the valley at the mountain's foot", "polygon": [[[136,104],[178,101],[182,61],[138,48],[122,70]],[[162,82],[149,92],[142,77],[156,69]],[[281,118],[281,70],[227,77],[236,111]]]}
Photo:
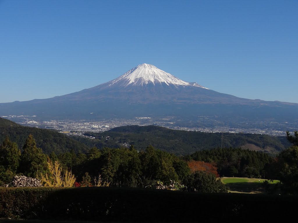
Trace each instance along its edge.
{"label": "pale sprawling city in the valley at the mountain's foot", "polygon": [[56,129],[64,134],[84,136],[85,132],[103,132],[125,125],[158,125],[170,129],[201,132],[252,133],[271,136],[285,136],[285,131],[294,131],[295,124],[277,123],[274,121],[249,123],[242,121],[238,126],[227,126],[216,117],[198,116],[196,121],[179,120],[176,117],[136,117],[135,119],[107,119],[107,120],[41,120],[37,116],[2,116],[24,126]]}

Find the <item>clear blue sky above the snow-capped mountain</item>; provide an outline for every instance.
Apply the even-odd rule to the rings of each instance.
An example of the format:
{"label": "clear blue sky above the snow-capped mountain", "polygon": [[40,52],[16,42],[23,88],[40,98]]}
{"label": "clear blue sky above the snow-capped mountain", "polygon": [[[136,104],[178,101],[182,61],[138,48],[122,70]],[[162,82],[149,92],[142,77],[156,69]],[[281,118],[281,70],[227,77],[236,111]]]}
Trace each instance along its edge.
{"label": "clear blue sky above the snow-capped mountain", "polygon": [[298,1],[0,0],[0,103],[77,92],[142,63],[298,103]]}

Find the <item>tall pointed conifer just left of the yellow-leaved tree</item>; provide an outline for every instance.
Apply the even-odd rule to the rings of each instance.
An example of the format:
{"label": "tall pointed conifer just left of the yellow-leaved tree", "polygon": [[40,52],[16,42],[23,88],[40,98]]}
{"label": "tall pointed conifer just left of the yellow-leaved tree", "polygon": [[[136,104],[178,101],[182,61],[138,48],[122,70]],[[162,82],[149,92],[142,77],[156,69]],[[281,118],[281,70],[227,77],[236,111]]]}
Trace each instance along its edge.
{"label": "tall pointed conifer just left of the yellow-leaved tree", "polygon": [[36,147],[35,140],[30,134],[23,146],[19,172],[25,176],[35,178],[37,174],[45,174],[48,170],[46,155],[41,148]]}

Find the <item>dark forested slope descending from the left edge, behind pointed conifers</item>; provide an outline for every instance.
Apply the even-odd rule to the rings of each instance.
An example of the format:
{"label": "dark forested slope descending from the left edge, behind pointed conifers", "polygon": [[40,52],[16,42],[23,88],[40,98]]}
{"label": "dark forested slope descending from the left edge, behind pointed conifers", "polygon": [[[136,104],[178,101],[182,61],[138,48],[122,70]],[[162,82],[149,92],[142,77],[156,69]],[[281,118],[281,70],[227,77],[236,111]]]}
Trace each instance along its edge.
{"label": "dark forested slope descending from the left edge, behind pointed conifers", "polygon": [[23,148],[25,140],[31,134],[37,147],[42,148],[43,152],[56,154],[74,150],[76,153],[81,151],[86,153],[88,147],[75,139],[70,138],[57,130],[32,128],[19,125],[10,120],[0,118],[0,142],[4,141],[5,136],[9,136],[11,141],[16,142],[20,149]]}

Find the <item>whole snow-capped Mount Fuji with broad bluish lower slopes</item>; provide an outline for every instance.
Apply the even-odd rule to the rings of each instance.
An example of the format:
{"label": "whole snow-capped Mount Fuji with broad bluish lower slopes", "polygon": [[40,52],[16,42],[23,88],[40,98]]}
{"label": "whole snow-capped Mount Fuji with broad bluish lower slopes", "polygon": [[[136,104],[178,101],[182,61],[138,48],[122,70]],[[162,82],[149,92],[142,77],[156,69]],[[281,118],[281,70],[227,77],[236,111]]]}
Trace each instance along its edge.
{"label": "whole snow-capped Mount Fuji with broad bluish lower slopes", "polygon": [[150,64],[119,78],[48,99],[0,103],[0,116],[36,115],[44,119],[92,119],[221,116],[226,120],[288,121],[297,119],[298,104],[251,100],[183,81]]}

